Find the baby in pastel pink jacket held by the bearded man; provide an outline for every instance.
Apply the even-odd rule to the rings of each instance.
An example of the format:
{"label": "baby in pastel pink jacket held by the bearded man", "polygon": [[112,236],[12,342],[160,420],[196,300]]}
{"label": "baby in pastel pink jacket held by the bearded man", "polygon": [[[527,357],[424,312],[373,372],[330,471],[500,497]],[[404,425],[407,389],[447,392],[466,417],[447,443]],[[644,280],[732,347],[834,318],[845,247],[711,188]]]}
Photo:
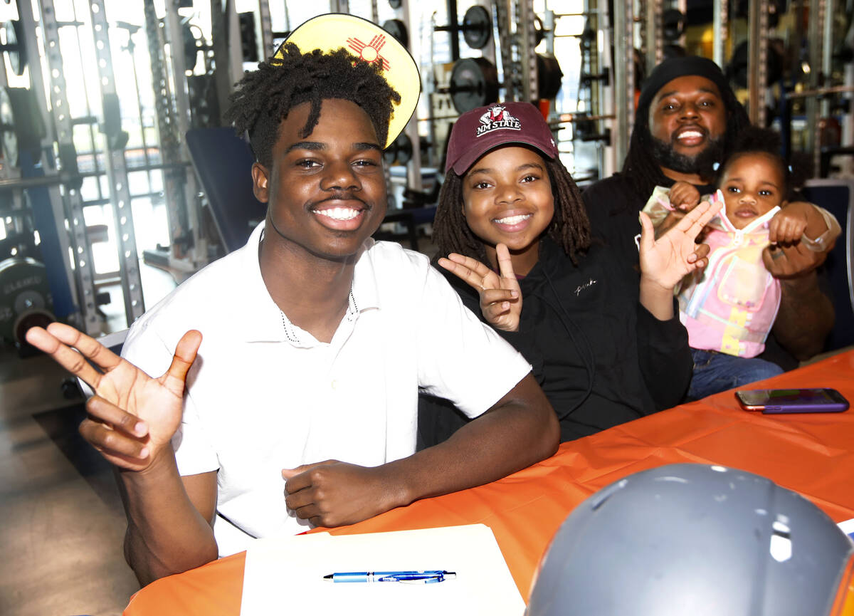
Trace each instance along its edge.
{"label": "baby in pastel pink jacket held by the bearded man", "polygon": [[[763,253],[774,259],[782,254],[780,244],[798,242],[825,252],[839,236],[832,214],[808,202],[787,201],[792,176],[778,152],[779,138],[773,131],[752,128],[741,138],[711,196],[722,200],[724,208],[702,238],[711,248],[709,265],[677,288],[694,359],[690,397],[710,396],[782,372],[757,358],[781,296],[780,281],[766,269]],[[676,182],[670,190],[657,187],[644,211],[660,233],[699,202],[696,187]]]}

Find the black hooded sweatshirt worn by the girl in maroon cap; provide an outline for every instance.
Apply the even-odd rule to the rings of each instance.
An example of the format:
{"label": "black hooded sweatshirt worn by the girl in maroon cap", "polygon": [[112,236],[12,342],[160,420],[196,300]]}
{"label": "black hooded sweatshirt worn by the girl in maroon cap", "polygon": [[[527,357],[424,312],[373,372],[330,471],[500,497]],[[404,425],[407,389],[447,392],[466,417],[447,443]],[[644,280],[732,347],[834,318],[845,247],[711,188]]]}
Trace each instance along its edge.
{"label": "black hooded sweatshirt worn by the girl in maroon cap", "polygon": [[[660,321],[643,308],[636,257],[620,253],[597,243],[576,266],[543,238],[539,261],[519,279],[519,331],[499,331],[531,363],[559,416],[562,441],[675,406],[691,378],[678,311]],[[483,320],[477,291],[442,272]],[[418,404],[420,446],[442,442],[465,423],[446,401],[421,396]]]}

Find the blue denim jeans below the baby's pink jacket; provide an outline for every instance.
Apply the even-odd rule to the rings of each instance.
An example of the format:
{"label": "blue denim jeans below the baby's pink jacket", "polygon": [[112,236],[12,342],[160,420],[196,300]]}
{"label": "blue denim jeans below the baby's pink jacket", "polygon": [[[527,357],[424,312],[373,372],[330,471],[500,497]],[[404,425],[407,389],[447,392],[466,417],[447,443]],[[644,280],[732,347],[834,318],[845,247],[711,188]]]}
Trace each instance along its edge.
{"label": "blue denim jeans below the baby's pink jacket", "polygon": [[735,357],[703,349],[691,349],[691,355],[694,369],[688,396],[695,400],[783,372],[775,363],[755,357]]}

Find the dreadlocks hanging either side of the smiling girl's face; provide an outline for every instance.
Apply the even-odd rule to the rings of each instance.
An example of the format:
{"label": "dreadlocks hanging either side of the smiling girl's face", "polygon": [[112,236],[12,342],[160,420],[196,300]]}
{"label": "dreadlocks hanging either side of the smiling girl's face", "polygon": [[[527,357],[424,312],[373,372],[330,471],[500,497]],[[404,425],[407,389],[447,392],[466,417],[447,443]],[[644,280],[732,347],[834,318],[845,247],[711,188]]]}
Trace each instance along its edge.
{"label": "dreadlocks hanging either side of the smiling girl's face", "polygon": [[[581,192],[564,164],[558,159],[552,160],[545,156],[543,161],[546,162],[554,197],[554,215],[546,233],[577,265],[577,255],[585,252],[590,246],[587,210],[584,208]],[[439,256],[455,252],[487,263],[483,240],[471,231],[465,220],[463,177],[454,173],[453,169],[448,169],[445,175],[442,191],[439,192],[439,202],[436,204],[433,241],[439,248]]]}

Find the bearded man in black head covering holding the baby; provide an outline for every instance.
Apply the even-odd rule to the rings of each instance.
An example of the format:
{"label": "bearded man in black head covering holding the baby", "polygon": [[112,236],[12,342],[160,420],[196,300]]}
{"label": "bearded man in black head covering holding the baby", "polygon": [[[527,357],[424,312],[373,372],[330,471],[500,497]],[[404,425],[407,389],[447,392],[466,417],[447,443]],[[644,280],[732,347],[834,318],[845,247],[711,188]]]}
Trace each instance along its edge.
{"label": "bearded man in black head covering holding the baby", "polygon": [[[582,194],[591,230],[606,244],[636,243],[638,212],[657,186],[684,181],[714,191],[717,167],[750,125],[721,69],[707,58],[665,60],[640,91],[623,170]],[[821,352],[834,325],[827,280],[816,273],[824,254],[802,243],[766,249],[766,267],[781,279],[782,298],[763,359],[785,370]]]}

